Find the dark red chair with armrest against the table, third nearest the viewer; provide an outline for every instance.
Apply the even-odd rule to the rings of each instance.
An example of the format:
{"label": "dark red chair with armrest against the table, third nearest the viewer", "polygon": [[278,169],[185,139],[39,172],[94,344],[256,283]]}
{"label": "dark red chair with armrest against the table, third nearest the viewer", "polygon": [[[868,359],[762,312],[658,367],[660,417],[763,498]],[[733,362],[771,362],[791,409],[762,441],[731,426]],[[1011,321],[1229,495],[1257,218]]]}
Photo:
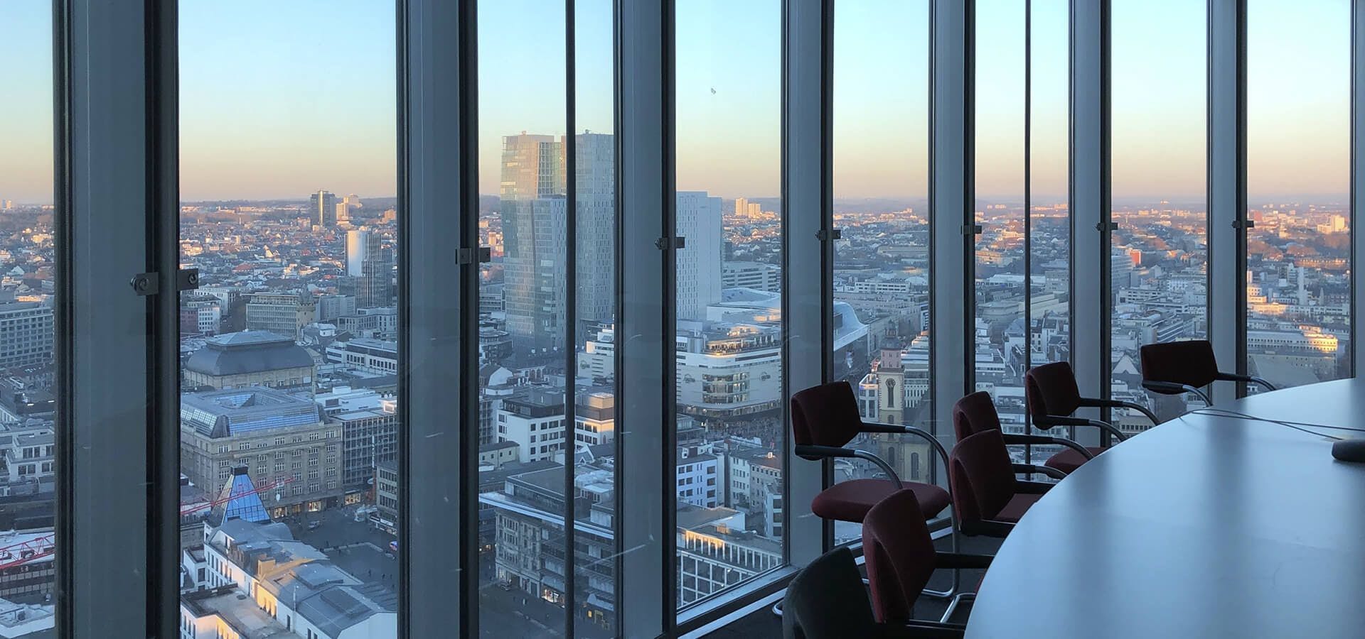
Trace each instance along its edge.
{"label": "dark red chair with armrest against the table, third nearest the viewer", "polygon": [[953,510],[965,535],[1006,537],[1014,523],[1055,484],[1020,481],[1005,437],[986,429],[953,447],[949,482]]}

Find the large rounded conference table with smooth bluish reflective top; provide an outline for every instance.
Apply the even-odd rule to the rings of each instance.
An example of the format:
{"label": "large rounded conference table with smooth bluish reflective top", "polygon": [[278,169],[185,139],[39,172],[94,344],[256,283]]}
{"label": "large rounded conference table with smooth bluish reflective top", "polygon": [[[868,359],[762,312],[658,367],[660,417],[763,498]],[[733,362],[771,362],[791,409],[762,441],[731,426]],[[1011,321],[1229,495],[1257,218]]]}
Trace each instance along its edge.
{"label": "large rounded conference table with smooth bluish reflective top", "polygon": [[[1365,428],[1365,380],[1215,405]],[[1129,437],[1039,500],[1001,545],[968,638],[1365,638],[1365,432],[1226,413]]]}

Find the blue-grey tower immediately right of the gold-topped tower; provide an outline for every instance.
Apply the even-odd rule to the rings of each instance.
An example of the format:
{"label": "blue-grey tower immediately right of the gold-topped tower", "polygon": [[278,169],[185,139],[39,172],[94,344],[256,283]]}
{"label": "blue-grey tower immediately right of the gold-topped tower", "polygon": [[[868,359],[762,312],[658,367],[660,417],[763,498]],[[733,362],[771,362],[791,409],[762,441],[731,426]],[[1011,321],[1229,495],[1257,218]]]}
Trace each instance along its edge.
{"label": "blue-grey tower immediately right of the gold-topped tower", "polygon": [[616,302],[616,139],[607,134],[575,136],[575,188],[577,199],[577,326],[575,343],[590,328],[609,323]]}

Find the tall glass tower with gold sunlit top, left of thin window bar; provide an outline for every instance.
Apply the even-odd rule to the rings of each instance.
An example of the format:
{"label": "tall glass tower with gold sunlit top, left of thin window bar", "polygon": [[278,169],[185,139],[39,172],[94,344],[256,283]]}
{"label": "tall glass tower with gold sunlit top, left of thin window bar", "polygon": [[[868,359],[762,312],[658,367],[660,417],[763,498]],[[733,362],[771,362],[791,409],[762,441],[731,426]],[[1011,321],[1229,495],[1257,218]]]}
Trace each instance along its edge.
{"label": "tall glass tower with gold sunlit top, left of thin window bar", "polygon": [[531,347],[562,347],[564,143],[504,136],[501,177],[506,330]]}

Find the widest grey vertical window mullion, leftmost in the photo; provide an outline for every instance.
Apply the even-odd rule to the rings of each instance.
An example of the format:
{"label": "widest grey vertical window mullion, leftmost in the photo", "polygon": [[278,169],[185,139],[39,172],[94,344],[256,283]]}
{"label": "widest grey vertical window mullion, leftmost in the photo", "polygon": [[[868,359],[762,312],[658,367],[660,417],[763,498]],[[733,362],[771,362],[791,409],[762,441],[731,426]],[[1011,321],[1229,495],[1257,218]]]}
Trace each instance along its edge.
{"label": "widest grey vertical window mullion, leftmost in the photo", "polygon": [[157,296],[128,286],[156,266],[149,211],[158,195],[147,143],[150,23],[143,3],[128,4],[75,0],[57,16],[56,330],[67,381],[59,394],[57,546],[68,586],[59,608],[63,632],[76,638],[106,628],[152,636],[169,629],[162,617],[173,620],[153,599],[167,567],[149,546],[154,526],[176,523],[153,511],[147,490],[158,424],[147,402]]}

